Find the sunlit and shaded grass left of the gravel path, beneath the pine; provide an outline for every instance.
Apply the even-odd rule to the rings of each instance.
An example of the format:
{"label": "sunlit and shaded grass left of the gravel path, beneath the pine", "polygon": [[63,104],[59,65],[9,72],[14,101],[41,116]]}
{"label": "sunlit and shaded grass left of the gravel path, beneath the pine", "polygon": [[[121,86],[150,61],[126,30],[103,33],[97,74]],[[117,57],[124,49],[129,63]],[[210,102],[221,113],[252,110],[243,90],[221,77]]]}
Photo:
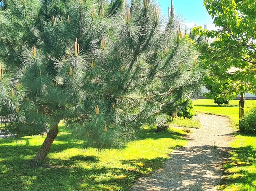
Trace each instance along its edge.
{"label": "sunlit and shaded grass left of the gravel path, beneath the pine", "polygon": [[133,180],[161,168],[174,148],[186,144],[182,130],[142,130],[122,150],[99,152],[60,131],[42,167],[30,161],[45,136],[0,138],[0,191],[128,191]]}

